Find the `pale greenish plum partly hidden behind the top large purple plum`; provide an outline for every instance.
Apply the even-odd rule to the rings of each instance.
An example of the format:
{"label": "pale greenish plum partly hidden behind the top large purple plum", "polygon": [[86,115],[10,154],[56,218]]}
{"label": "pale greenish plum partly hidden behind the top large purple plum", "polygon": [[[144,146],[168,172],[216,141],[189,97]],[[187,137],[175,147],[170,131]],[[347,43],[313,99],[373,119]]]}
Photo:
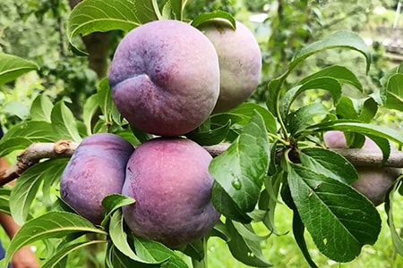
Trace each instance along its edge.
{"label": "pale greenish plum partly hidden behind the top large purple plum", "polygon": [[262,53],[253,33],[236,21],[212,20],[199,29],[210,39],[219,54],[220,91],[213,113],[226,112],[243,103],[259,85]]}

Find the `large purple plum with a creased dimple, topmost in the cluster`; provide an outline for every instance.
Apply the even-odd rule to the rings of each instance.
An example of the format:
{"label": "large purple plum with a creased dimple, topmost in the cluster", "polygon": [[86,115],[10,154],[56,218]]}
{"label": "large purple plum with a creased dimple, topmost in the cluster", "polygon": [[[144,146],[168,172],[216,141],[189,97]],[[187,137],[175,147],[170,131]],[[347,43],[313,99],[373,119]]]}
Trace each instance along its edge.
{"label": "large purple plum with a creased dimple, topmost in the cluster", "polygon": [[198,29],[151,21],[119,43],[108,74],[118,111],[159,136],[183,135],[205,121],[219,97],[219,58]]}

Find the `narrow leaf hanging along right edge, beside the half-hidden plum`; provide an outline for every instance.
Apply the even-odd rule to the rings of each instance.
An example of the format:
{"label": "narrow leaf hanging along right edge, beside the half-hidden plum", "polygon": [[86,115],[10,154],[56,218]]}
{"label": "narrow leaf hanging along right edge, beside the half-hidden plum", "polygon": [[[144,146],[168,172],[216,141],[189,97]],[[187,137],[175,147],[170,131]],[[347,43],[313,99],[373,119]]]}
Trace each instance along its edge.
{"label": "narrow leaf hanging along right edge, beside the half-hidden plum", "polygon": [[399,255],[403,255],[403,239],[400,236],[400,231],[396,229],[394,213],[393,213],[393,196],[401,185],[402,176],[398,178],[393,184],[393,187],[390,188],[388,195],[385,198],[385,211],[388,215],[388,226],[390,229],[390,236],[393,243],[394,248],[399,253]]}

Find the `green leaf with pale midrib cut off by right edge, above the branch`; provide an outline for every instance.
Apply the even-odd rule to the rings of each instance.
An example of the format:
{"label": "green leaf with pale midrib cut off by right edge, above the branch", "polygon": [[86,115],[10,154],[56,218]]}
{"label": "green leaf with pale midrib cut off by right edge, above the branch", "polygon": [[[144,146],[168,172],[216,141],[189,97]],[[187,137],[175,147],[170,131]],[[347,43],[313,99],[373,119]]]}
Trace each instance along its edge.
{"label": "green leaf with pale midrib cut off by right edge, above the branch", "polygon": [[386,101],[384,106],[403,111],[403,73],[390,76],[386,85]]}

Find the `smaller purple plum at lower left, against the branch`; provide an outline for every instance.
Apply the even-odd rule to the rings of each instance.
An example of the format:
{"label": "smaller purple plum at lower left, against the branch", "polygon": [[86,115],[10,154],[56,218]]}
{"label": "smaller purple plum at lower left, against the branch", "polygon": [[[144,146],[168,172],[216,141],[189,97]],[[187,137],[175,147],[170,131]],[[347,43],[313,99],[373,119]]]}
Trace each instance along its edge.
{"label": "smaller purple plum at lower left, against the branch", "polygon": [[133,146],[115,134],[98,133],[82,139],[64,169],[60,195],[82,217],[99,224],[102,199],[120,194]]}

